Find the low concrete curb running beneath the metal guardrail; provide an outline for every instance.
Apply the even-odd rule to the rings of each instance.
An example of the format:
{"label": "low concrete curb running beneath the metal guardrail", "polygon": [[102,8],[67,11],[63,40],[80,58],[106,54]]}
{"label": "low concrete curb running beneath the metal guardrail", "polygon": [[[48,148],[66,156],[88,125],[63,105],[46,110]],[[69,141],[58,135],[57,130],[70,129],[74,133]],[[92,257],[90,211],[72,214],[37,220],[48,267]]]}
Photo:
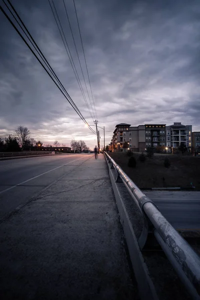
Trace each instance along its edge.
{"label": "low concrete curb running beneath the metal guardrail", "polygon": [[114,178],[114,172],[115,169],[111,169],[109,167],[109,163],[104,156],[106,165],[108,167],[109,177],[112,184],[112,189],[114,192],[114,196],[116,199],[116,205],[118,208],[119,216],[120,216],[120,222],[123,228],[125,240],[127,243],[127,248],[129,252],[130,261],[132,264],[132,268],[134,271],[135,279],[137,281],[137,287],[139,291],[139,295],[142,300],[158,300],[155,287],[152,283],[152,280],[149,276],[148,269],[146,266],[146,263],[144,261],[144,258],[141,254],[141,251],[138,246],[138,242],[134,233],[134,230],[132,228],[132,224],[130,222],[127,210],[125,208],[125,205],[123,203],[123,198],[119,192],[119,189],[117,187],[115,178]]}

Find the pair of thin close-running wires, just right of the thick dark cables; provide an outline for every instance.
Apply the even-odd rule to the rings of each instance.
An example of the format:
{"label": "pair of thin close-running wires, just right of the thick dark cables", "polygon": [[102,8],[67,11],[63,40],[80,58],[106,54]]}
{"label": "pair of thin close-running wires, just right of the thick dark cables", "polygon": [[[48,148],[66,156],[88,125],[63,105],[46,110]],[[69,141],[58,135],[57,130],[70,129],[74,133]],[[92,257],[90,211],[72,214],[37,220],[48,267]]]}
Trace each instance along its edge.
{"label": "pair of thin close-running wires, just right of the thick dark cables", "polygon": [[[93,117],[92,117],[92,115],[91,115],[91,112],[90,112],[90,109],[89,109],[89,106],[88,106],[88,103],[87,103],[87,100],[86,100],[86,97],[85,97],[85,94],[84,94],[84,90],[83,90],[83,88],[82,88],[82,85],[81,85],[81,82],[80,82],[80,79],[79,79],[79,76],[78,76],[78,73],[77,73],[77,70],[76,70],[76,67],[75,67],[74,61],[73,61],[73,58],[72,58],[72,56],[71,56],[71,52],[70,52],[70,50],[69,50],[69,47],[68,47],[68,43],[67,43],[67,41],[66,41],[66,38],[65,38],[65,35],[64,35],[64,32],[63,32],[63,29],[62,29],[62,26],[61,26],[61,23],[60,23],[60,20],[59,20],[58,14],[57,14],[57,10],[56,10],[56,8],[55,8],[55,5],[54,5],[54,3],[53,3],[53,1],[52,1],[52,3],[53,3],[53,6],[54,6],[54,9],[55,9],[55,13],[56,13],[56,15],[57,15],[57,18],[58,18],[58,22],[59,22],[59,24],[60,24],[60,27],[61,27],[61,30],[62,30],[62,34],[63,34],[63,36],[64,36],[64,39],[65,39],[65,42],[66,42],[66,45],[65,45],[65,43],[64,43],[64,40],[63,40],[63,37],[62,37],[61,31],[60,31],[60,28],[59,28],[59,26],[58,26],[58,23],[57,23],[56,17],[55,17],[55,15],[54,15],[54,12],[53,12],[53,9],[52,9],[52,6],[51,6],[51,4],[50,4],[50,1],[49,1],[49,0],[48,0],[48,3],[49,3],[49,5],[50,5],[51,11],[52,11],[52,13],[53,13],[53,16],[54,16],[54,19],[55,19],[55,22],[56,22],[57,28],[58,28],[58,30],[59,30],[59,33],[60,33],[60,36],[61,36],[62,42],[63,42],[63,44],[64,44],[64,47],[65,47],[66,53],[67,53],[67,55],[68,55],[68,58],[69,58],[69,61],[70,61],[70,63],[71,63],[71,66],[72,66],[73,72],[74,72],[74,74],[75,74],[76,80],[77,80],[77,82],[78,82],[78,85],[79,85],[80,91],[81,91],[81,93],[82,93],[82,96],[83,96],[83,99],[84,99],[84,101],[85,101],[85,104],[86,104],[86,106],[87,106],[87,108],[88,108],[88,111],[89,111],[89,113],[90,113],[90,116],[91,116],[91,118],[93,119]],[[66,48],[66,46],[67,46],[67,48],[68,48],[68,51],[67,51],[67,48]],[[70,55],[70,56],[69,56],[69,55]]]}

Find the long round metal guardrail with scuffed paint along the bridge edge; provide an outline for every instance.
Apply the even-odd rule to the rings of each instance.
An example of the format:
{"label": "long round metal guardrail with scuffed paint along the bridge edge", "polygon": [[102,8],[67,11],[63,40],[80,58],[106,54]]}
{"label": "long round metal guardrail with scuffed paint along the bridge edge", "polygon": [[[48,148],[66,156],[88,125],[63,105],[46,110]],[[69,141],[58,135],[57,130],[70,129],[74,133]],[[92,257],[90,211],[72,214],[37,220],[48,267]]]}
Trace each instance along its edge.
{"label": "long round metal guardrail with scuffed paint along the bridge edge", "polygon": [[142,250],[149,229],[164,251],[192,299],[200,299],[200,257],[160,213],[153,201],[139,189],[121,167],[104,152],[110,168],[116,170],[115,182],[123,182],[143,215],[143,229],[138,239]]}

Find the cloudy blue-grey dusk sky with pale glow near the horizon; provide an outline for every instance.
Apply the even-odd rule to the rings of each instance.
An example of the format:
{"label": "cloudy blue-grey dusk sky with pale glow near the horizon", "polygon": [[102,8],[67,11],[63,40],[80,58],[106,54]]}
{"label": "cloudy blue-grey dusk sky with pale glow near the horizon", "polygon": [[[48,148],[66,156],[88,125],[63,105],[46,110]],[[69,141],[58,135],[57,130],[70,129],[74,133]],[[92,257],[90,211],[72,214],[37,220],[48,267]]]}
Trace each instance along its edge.
{"label": "cloudy blue-grey dusk sky with pale glow near the horizon", "polygon": [[[92,108],[63,0],[54,5],[90,112],[48,0],[11,0],[87,123],[94,125],[97,117],[98,125],[105,126],[105,144],[121,122],[181,122],[200,131],[199,0],[75,0],[95,109],[73,1],[64,2]],[[2,0],[0,4],[5,7]],[[18,125],[43,144],[58,140],[70,146],[71,139],[82,139],[90,148],[96,144],[96,136],[0,12],[0,137]],[[103,145],[103,130],[98,129]]]}

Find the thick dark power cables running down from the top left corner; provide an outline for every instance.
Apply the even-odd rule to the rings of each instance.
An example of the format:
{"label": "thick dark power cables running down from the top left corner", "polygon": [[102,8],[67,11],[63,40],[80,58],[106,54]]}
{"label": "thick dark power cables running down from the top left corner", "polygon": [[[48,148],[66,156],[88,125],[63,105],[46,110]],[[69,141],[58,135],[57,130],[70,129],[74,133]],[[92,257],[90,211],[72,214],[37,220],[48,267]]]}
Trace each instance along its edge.
{"label": "thick dark power cables running down from the top left corner", "polygon": [[[14,10],[16,16],[19,18],[19,20],[21,21],[22,25],[24,26],[25,30],[27,31],[27,33],[29,34],[30,38],[33,40],[33,42],[35,43],[36,47],[38,48],[39,52],[42,54],[41,50],[39,49],[39,47],[37,46],[36,42],[34,41],[34,39],[32,38],[32,36],[30,35],[29,31],[27,30],[26,26],[24,25],[24,23],[22,22],[22,20],[20,19],[20,17],[18,16],[16,10],[14,9],[14,7],[12,6],[12,4],[10,3],[9,0],[7,0],[8,3],[10,4],[10,6],[12,7],[12,9]],[[8,10],[10,11],[9,7],[7,6],[7,4],[5,3],[5,1],[3,0],[4,4],[6,5],[6,7],[8,8]],[[55,72],[53,71],[53,69],[51,68],[50,64],[47,62],[46,58],[44,57],[44,55],[42,54],[42,56],[44,57],[46,63],[48,64],[48,68],[50,68],[51,74],[55,74],[53,75],[54,78],[56,78],[56,80],[58,82],[56,82],[53,77],[50,75],[50,73],[48,72],[48,70],[45,68],[45,66],[42,64],[42,62],[39,60],[39,58],[37,57],[37,55],[35,54],[35,52],[33,51],[33,49],[30,47],[30,45],[27,43],[27,41],[25,40],[25,38],[22,36],[22,34],[19,32],[19,30],[17,29],[17,27],[14,25],[14,23],[12,22],[12,20],[10,19],[10,17],[7,15],[7,13],[4,11],[4,9],[2,8],[2,6],[0,5],[0,10],[3,12],[3,14],[5,15],[5,17],[8,19],[8,21],[11,23],[11,25],[13,26],[13,28],[16,30],[16,32],[19,34],[19,36],[22,38],[22,40],[25,42],[25,44],[28,46],[28,48],[30,49],[30,51],[33,53],[33,55],[36,57],[36,59],[38,60],[38,62],[41,64],[41,66],[44,68],[44,70],[47,72],[47,74],[50,76],[50,78],[53,80],[53,82],[55,83],[55,85],[59,88],[59,90],[61,91],[61,93],[64,95],[64,97],[67,99],[67,101],[70,103],[70,105],[73,107],[73,109],[76,111],[76,113],[80,116],[80,118],[83,120],[83,122],[85,124],[88,125],[88,123],[86,122],[86,120],[84,119],[83,115],[81,114],[81,112],[79,111],[79,109],[77,108],[77,106],[75,105],[75,103],[73,102],[73,100],[71,99],[71,97],[69,96],[69,94],[67,93],[67,91],[65,90],[65,88],[63,87],[62,83],[60,82],[60,80],[58,79],[58,77],[56,76]],[[10,13],[12,14],[12,16],[14,17],[13,13],[10,11]],[[16,18],[14,17],[14,19],[16,20]],[[16,20],[17,21],[17,20]],[[17,21],[18,25],[21,27],[21,25],[19,24],[19,22]],[[22,27],[21,27],[22,28]],[[23,30],[23,29],[22,29]],[[24,30],[23,30],[24,32]],[[25,33],[25,35],[27,36],[27,34]],[[28,37],[29,39],[29,37]],[[30,39],[29,39],[30,40]],[[32,42],[31,42],[32,44]],[[33,45],[33,44],[32,44]],[[34,46],[34,45],[33,45]],[[35,48],[35,47],[34,47]],[[37,51],[38,52],[38,51]],[[40,55],[41,57],[41,55]],[[45,63],[45,64],[46,64]],[[62,87],[62,89],[65,91],[66,95],[64,94],[64,92],[61,90],[60,86]],[[68,99],[69,98],[69,99]],[[89,127],[89,126],[88,126]],[[92,131],[92,133],[95,134],[94,130],[89,127],[89,129]]]}

